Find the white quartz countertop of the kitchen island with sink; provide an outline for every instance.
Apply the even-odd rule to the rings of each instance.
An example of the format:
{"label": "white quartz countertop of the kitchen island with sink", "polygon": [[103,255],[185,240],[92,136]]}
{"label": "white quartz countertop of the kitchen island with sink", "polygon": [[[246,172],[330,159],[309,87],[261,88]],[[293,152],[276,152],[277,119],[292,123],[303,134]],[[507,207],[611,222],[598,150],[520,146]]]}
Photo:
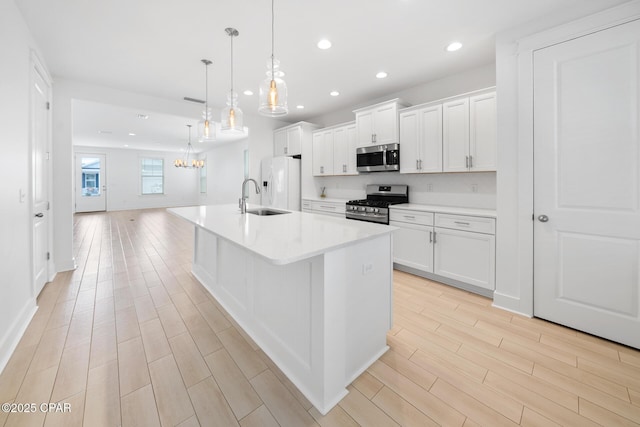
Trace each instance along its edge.
{"label": "white quartz countertop of the kitchen island with sink", "polygon": [[[260,207],[247,205],[248,210]],[[270,216],[242,215],[237,205],[190,206],[167,211],[277,265],[321,255],[396,229],[296,211]]]}

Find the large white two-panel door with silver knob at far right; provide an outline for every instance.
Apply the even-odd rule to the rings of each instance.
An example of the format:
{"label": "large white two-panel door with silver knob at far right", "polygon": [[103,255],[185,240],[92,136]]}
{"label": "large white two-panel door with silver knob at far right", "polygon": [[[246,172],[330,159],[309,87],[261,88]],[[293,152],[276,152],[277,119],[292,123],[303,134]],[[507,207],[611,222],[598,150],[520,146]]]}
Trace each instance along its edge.
{"label": "large white two-panel door with silver knob at far right", "polygon": [[534,314],[640,348],[640,21],[534,54]]}

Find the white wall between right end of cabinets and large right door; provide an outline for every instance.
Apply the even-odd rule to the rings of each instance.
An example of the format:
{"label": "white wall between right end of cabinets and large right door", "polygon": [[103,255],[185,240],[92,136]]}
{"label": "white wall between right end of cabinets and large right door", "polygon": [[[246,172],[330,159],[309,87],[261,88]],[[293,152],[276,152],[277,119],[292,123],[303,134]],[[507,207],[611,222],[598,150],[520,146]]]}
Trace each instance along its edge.
{"label": "white wall between right end of cabinets and large right door", "polygon": [[[532,52],[519,51],[520,46],[527,37],[548,29],[553,29],[548,44],[555,43],[555,33],[567,32],[558,26],[619,3],[624,0],[584,2],[580,9],[557,11],[496,38],[499,172],[494,304],[499,307],[533,315],[533,131],[527,125],[533,117],[533,98],[521,90],[522,82],[531,81],[531,67],[523,64],[531,61]],[[591,31],[601,28],[602,20],[592,21],[582,26]],[[580,33],[576,28],[568,30],[567,38]]]}

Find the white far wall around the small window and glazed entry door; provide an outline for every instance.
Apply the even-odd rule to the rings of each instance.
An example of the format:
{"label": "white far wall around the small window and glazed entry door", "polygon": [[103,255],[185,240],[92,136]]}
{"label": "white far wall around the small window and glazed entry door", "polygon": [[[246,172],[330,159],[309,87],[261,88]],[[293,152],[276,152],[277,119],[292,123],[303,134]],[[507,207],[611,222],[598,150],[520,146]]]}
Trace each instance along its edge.
{"label": "white far wall around the small window and glazed entry door", "polygon": [[[103,184],[107,186],[108,211],[192,206],[199,203],[198,171],[173,166],[173,161],[181,153],[82,146],[74,146],[74,153],[106,156],[106,182]],[[164,194],[140,194],[140,159],[143,157],[164,159]]]}

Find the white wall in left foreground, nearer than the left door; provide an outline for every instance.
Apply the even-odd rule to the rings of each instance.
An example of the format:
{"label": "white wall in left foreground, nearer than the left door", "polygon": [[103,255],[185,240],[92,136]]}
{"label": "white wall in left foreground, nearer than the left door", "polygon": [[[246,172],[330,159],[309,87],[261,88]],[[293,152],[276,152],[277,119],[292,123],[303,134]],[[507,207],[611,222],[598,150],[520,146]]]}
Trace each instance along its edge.
{"label": "white wall in left foreground, nearer than the left door", "polygon": [[14,2],[0,0],[0,372],[36,310],[30,254],[32,48],[29,29]]}

